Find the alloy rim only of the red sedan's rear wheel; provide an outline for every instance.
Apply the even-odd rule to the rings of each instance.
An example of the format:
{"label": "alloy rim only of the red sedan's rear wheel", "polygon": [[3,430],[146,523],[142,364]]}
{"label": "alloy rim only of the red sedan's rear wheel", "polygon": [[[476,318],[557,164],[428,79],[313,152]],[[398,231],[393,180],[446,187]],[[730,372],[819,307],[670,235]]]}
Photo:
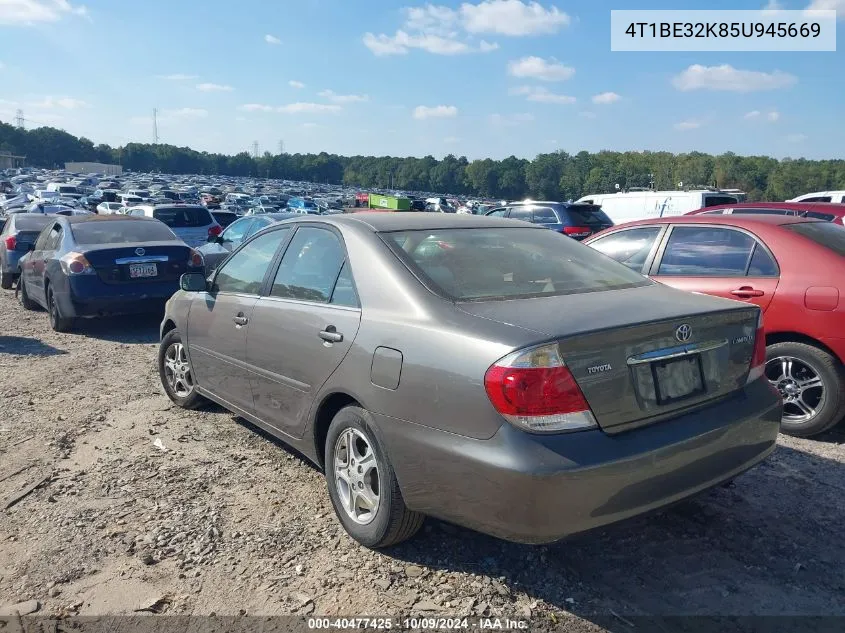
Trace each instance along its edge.
{"label": "alloy rim only of the red sedan's rear wheel", "polygon": [[824,406],[824,381],[805,360],[793,356],[772,358],[766,363],[766,378],[783,396],[784,422],[809,422]]}

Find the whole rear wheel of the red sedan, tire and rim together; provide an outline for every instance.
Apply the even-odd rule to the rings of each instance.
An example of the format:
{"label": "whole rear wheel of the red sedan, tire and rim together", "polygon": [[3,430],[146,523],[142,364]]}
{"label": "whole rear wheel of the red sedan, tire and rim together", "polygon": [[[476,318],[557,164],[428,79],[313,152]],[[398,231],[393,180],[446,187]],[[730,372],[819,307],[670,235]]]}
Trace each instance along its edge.
{"label": "whole rear wheel of the red sedan, tire and rim together", "polygon": [[[766,377],[784,397],[783,433],[812,437],[842,419],[845,371],[839,360],[823,349],[792,341],[769,345]],[[808,382],[815,386],[804,386]],[[807,414],[805,407],[812,410],[812,415]]]}

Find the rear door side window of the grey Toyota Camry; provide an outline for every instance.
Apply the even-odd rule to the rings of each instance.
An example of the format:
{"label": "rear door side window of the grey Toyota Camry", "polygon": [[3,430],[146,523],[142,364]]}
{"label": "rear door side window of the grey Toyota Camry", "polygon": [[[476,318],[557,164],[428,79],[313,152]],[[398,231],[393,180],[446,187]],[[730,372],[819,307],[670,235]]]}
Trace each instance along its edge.
{"label": "rear door side window of the grey Toyota Camry", "polygon": [[282,257],[270,295],[328,303],[345,259],[343,245],[334,233],[303,227]]}

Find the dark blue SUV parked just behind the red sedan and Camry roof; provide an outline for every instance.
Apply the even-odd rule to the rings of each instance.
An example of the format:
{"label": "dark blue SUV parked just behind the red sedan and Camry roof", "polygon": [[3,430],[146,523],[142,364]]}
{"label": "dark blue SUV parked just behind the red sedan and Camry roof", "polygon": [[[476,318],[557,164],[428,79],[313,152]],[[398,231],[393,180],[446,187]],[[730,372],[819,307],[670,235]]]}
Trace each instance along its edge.
{"label": "dark blue SUV parked just behind the red sedan and Camry roof", "polygon": [[509,202],[505,206],[491,209],[485,215],[540,224],[576,240],[583,240],[613,226],[613,220],[599,205],[572,202]]}

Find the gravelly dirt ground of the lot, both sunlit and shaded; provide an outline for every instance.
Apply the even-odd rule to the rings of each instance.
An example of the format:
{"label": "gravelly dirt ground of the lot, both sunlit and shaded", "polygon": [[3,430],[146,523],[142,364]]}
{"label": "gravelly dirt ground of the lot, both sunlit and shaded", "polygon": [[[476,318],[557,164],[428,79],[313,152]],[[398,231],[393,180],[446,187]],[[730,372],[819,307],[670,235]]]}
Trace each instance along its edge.
{"label": "gravelly dirt ground of the lot, both sunlit and shaded", "polygon": [[631,630],[642,614],[845,614],[843,425],[783,437],[733,487],[554,546],[430,520],[375,553],[342,532],[311,466],[222,409],[170,405],[157,326],[56,334],[0,294],[0,500],[43,482],[0,502],[0,606],[530,614],[572,631]]}

